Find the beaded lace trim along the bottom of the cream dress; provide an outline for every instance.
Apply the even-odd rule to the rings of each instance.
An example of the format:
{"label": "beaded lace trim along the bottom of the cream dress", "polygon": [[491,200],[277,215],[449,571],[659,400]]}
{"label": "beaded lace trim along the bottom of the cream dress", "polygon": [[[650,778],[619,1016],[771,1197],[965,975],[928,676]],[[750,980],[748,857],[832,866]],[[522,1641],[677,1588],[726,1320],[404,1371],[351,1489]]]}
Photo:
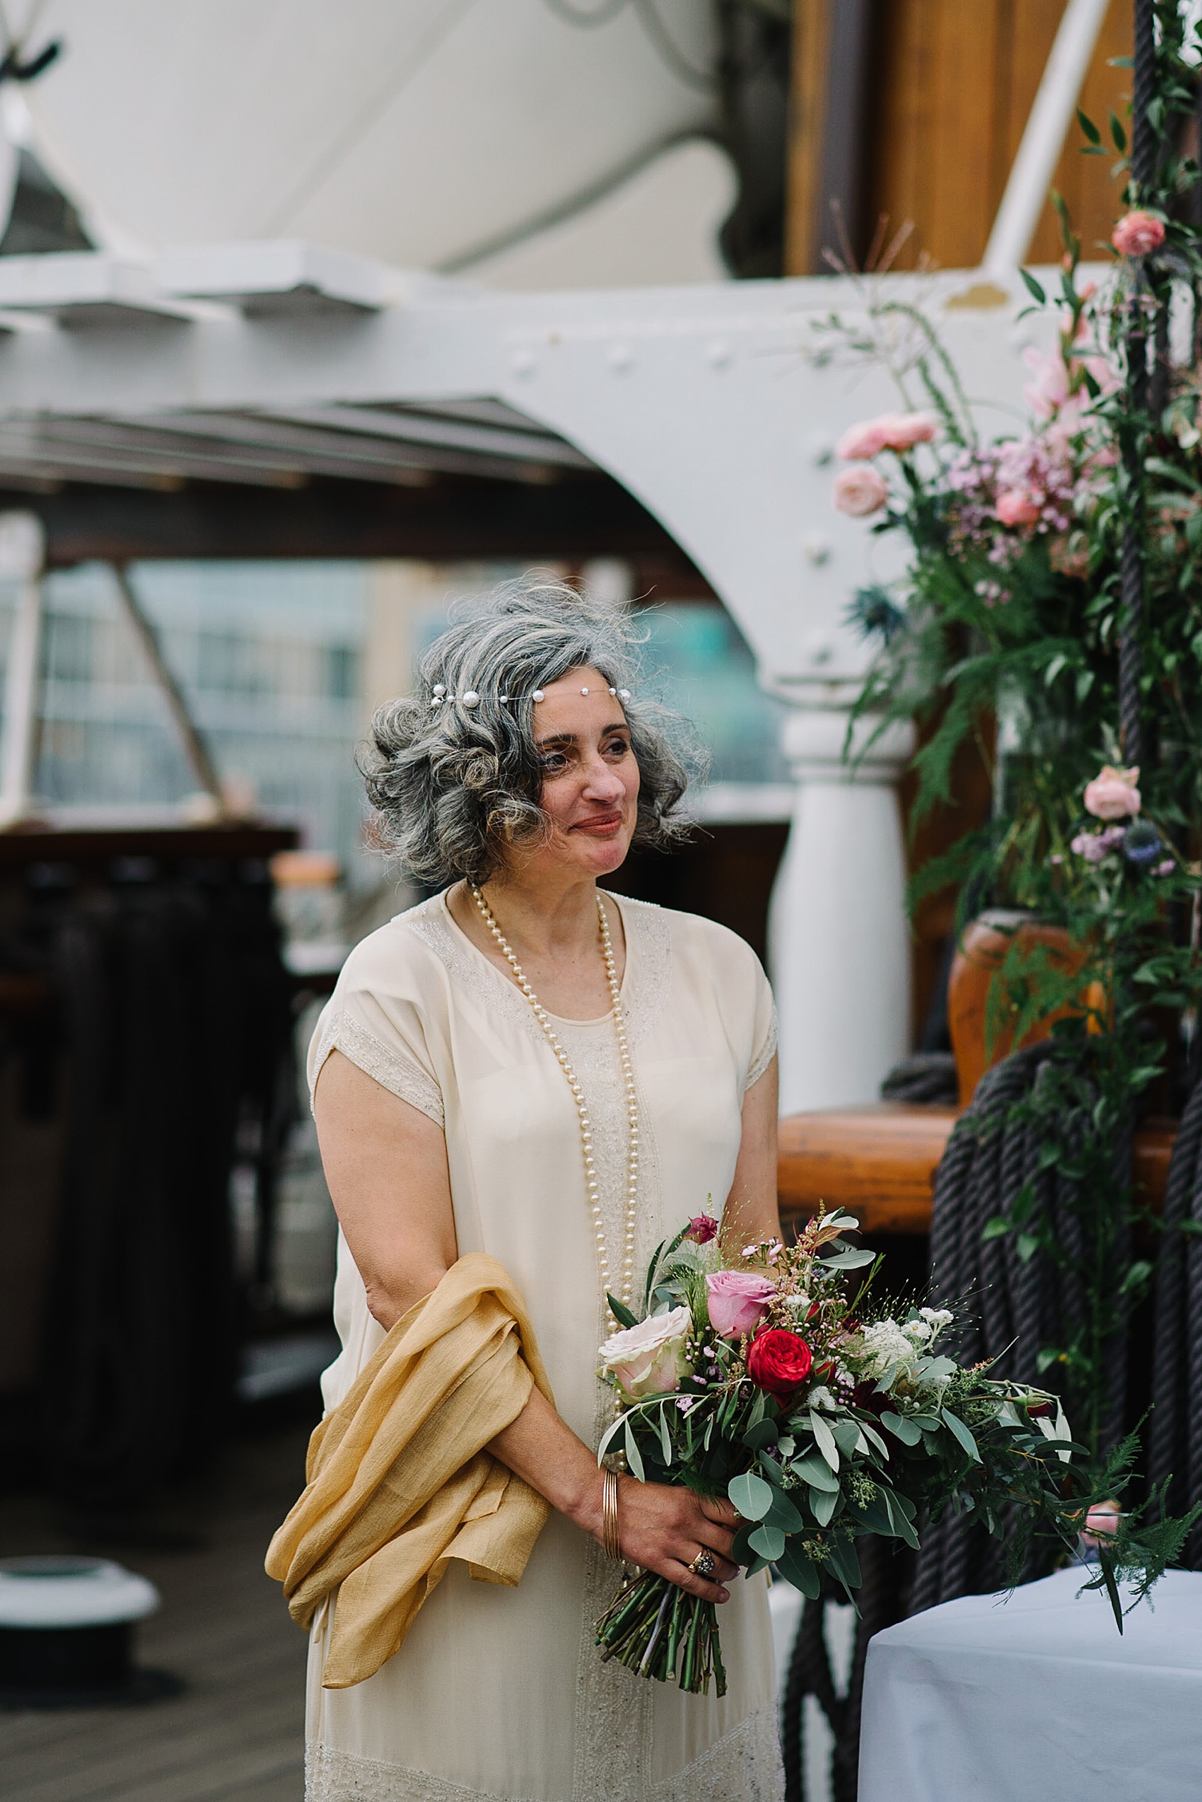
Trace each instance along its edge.
{"label": "beaded lace trim along the bottom of the cream dress", "polygon": [[[627,1672],[629,1676],[629,1672]],[[631,1678],[643,1683],[643,1678]],[[602,1771],[593,1773],[593,1795],[615,1802]],[[777,1716],[760,1708],[741,1721],[699,1759],[667,1782],[643,1788],[647,1802],[780,1802],[784,1771]],[[414,1771],[404,1764],[360,1759],[335,1746],[305,1750],[305,1802],[532,1802],[528,1797],[497,1797],[490,1789],[465,1789],[445,1777]],[[575,1802],[564,1797],[562,1802]]]}

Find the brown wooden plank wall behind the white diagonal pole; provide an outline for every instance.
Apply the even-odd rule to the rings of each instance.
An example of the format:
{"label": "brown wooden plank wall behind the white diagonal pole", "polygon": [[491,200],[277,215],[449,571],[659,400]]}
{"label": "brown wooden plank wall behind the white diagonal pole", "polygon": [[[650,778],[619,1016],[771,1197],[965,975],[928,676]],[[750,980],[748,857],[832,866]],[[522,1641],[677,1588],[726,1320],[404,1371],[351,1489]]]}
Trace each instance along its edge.
{"label": "brown wooden plank wall behind the white diagonal pole", "polygon": [[[789,159],[788,265],[820,272],[818,247],[829,225],[831,171],[824,144],[833,106],[849,105],[849,70],[833,67],[833,7],[847,0],[797,0],[793,123]],[[856,4],[856,0],[852,0]],[[989,236],[1022,130],[1031,112],[1063,0],[863,0],[865,68],[860,162],[845,198],[858,254],[881,213],[894,227],[914,222],[896,267],[928,256],[942,268],[971,268]],[[1130,54],[1130,0],[1112,0],[1081,106],[1105,130],[1106,112],[1126,119],[1130,70],[1110,59]],[[1108,139],[1106,139],[1108,141]],[[1054,186],[1063,193],[1083,254],[1110,236],[1117,211],[1114,159],[1081,157],[1076,121],[1069,128]],[[827,146],[829,164],[829,146]],[[1054,261],[1060,232],[1051,204],[1029,261]]]}

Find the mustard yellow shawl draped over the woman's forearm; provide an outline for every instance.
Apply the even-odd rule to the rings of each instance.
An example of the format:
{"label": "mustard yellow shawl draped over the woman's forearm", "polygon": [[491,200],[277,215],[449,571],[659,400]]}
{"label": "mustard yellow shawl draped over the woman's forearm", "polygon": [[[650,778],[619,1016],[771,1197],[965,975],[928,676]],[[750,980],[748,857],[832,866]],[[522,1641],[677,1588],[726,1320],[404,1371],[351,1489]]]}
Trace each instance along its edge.
{"label": "mustard yellow shawl draped over the woman's forearm", "polygon": [[550,1508],[485,1447],[533,1384],[553,1402],[521,1297],[494,1258],[469,1252],[315,1427],[267,1573],[305,1629],[337,1591],[324,1688],[396,1652],[451,1559],[517,1584]]}

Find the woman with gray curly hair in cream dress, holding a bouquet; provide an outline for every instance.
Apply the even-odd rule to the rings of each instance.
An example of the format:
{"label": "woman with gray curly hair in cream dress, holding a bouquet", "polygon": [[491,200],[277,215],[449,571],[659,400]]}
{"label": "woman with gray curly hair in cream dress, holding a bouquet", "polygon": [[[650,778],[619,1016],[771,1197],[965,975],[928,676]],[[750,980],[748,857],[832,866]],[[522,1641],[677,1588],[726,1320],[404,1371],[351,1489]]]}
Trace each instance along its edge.
{"label": "woman with gray curly hair in cream dress, holding a bouquet", "polygon": [[[730,1561],[733,1510],[596,1461],[606,1294],[629,1301],[706,1197],[733,1249],[777,1233],[775,1018],[753,951],[598,887],[631,845],[681,836],[683,744],[642,694],[625,614],[551,584],[452,625],[416,694],[375,717],[368,793],[438,894],[351,951],[310,1051],[341,1220],[326,1406],[483,1252],[523,1297],[555,1397],[532,1386],[487,1451],[550,1517],[515,1588],[445,1561],[364,1681],[323,1687],[317,1616],[314,1802],[782,1793],[764,1577]],[[615,1555],[724,1604],[724,1697],[600,1660]]]}

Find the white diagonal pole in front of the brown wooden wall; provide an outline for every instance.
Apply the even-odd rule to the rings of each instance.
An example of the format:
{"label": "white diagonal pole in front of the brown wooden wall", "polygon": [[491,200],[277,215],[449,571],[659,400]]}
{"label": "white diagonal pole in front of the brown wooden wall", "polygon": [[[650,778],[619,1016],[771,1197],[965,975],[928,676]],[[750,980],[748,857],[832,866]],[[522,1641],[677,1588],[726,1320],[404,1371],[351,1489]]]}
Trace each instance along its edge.
{"label": "white diagonal pole in front of the brown wooden wall", "polygon": [[1063,11],[986,245],[982,268],[991,276],[1018,268],[1031,249],[1108,5],[1110,0],[1069,0]]}

